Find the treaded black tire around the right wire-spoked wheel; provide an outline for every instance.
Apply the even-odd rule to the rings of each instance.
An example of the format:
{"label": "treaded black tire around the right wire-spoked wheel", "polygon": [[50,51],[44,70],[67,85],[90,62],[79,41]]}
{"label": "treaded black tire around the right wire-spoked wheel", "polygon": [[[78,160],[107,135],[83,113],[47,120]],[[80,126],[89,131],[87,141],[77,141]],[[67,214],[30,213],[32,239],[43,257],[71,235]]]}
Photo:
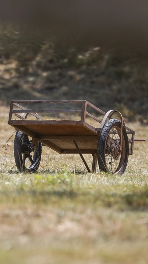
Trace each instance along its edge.
{"label": "treaded black tire around the right wire-spoked wheel", "polygon": [[[105,160],[105,145],[106,145],[106,139],[107,135],[111,128],[113,127],[119,127],[121,128],[121,122],[118,119],[109,119],[102,131],[99,134],[98,138],[98,145],[97,145],[97,159],[98,159],[98,165],[100,171],[109,172],[107,170],[106,160]],[[129,157],[129,143],[128,143],[128,136],[126,133],[126,129],[123,125],[123,137],[125,141],[125,158],[122,167],[119,169],[119,171],[116,173],[117,175],[122,175],[126,169],[128,157]]]}

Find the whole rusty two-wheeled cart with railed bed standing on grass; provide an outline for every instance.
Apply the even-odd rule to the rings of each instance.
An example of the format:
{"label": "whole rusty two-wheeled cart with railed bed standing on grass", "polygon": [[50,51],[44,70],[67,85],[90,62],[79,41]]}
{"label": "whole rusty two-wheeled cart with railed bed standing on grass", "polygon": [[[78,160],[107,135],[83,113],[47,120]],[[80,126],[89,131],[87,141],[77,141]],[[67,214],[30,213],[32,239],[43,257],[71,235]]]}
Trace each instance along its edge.
{"label": "whole rusty two-wheeled cart with railed bed standing on grass", "polygon": [[[81,107],[80,110],[29,110],[22,104],[46,104],[47,109],[49,104],[80,104]],[[90,107],[96,115],[104,116],[103,119],[90,114],[87,111]],[[44,119],[39,116],[40,113],[77,113],[80,120]],[[112,118],[114,113],[117,119]],[[27,119],[29,114],[34,120]],[[85,121],[86,116],[96,121],[96,127]],[[41,160],[42,145],[45,145],[60,154],[80,154],[88,172],[96,172],[98,160],[101,171],[121,175],[126,169],[129,154],[133,154],[134,141],[144,141],[134,139],[135,132],[125,126],[117,110],[105,113],[87,101],[11,101],[9,125],[17,130],[14,158],[19,171],[36,171]],[[92,170],[82,154],[92,154]],[[28,167],[27,161],[30,162]]]}

